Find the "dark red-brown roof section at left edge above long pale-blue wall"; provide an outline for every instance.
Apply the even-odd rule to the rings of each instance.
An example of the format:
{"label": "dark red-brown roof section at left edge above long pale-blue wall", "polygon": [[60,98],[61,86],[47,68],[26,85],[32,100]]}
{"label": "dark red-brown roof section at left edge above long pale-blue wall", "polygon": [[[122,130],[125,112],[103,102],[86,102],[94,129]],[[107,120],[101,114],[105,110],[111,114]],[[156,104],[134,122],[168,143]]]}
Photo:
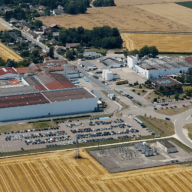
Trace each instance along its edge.
{"label": "dark red-brown roof section at left edge above long pale-blue wall", "polygon": [[49,101],[41,93],[0,97],[0,108],[37,105],[45,103],[49,103]]}

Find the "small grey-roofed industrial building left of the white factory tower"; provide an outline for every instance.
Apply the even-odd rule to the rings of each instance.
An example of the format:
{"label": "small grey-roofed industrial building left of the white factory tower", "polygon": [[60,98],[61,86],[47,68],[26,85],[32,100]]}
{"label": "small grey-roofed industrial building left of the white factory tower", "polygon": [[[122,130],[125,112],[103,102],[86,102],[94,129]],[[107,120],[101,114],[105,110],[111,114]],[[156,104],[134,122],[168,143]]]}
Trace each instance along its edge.
{"label": "small grey-roofed industrial building left of the white factory tower", "polygon": [[113,58],[110,58],[110,57],[102,58],[102,59],[99,60],[99,62],[103,63],[108,68],[120,68],[120,67],[125,66],[123,61],[118,61],[117,59],[113,59]]}

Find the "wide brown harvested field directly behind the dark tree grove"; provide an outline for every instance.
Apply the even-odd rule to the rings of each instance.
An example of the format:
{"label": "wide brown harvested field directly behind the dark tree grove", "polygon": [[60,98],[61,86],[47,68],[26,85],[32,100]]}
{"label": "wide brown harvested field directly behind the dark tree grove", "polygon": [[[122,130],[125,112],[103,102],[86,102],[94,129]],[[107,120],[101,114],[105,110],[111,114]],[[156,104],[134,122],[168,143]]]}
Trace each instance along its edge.
{"label": "wide brown harvested field directly behind the dark tree grove", "polygon": [[117,27],[120,31],[192,31],[192,27],[181,25],[136,6],[89,8],[87,14],[63,14],[37,19],[47,26],[57,23],[65,28],[82,26],[85,29],[92,29],[108,25]]}

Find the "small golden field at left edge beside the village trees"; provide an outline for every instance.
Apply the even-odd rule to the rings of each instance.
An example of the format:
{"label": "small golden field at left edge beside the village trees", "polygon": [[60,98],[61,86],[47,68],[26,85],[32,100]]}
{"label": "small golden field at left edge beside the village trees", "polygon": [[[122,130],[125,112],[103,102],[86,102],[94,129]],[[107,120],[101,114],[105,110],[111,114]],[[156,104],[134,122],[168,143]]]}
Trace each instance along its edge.
{"label": "small golden field at left edge beside the village trees", "polygon": [[0,43],[0,57],[2,57],[2,59],[4,59],[5,61],[7,61],[8,59],[12,59],[17,62],[22,60],[22,57],[17,55],[17,53],[15,53],[2,43]]}

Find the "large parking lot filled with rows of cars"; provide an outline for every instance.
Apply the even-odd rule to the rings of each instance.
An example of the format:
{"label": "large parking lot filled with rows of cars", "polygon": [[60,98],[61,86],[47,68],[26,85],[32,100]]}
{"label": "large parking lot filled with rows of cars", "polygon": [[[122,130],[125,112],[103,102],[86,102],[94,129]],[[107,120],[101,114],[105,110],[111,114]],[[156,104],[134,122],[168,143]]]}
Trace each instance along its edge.
{"label": "large parking lot filled with rows of cars", "polygon": [[131,116],[121,118],[78,119],[57,122],[58,127],[20,130],[0,135],[0,152],[13,152],[39,148],[50,148],[79,143],[93,143],[108,140],[151,135],[151,131],[141,126]]}

